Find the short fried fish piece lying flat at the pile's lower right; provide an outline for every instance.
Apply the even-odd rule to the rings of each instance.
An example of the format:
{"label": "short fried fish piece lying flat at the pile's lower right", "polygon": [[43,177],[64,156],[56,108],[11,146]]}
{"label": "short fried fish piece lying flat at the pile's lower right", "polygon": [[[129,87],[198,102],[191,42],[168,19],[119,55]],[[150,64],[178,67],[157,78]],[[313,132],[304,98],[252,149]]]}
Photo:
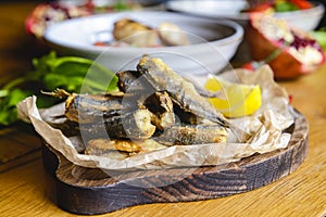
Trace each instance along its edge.
{"label": "short fried fish piece lying flat at the pile's lower right", "polygon": [[166,128],[154,138],[158,142],[171,145],[191,145],[226,142],[228,132],[220,125],[175,125]]}

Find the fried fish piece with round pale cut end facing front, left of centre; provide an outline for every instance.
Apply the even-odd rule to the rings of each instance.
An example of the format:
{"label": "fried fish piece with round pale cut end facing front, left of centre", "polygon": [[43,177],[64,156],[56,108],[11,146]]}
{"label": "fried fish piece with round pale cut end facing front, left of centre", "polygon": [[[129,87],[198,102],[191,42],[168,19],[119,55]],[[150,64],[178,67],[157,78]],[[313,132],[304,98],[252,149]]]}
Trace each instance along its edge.
{"label": "fried fish piece with round pale cut end facing front, left of centre", "polygon": [[154,131],[151,124],[152,113],[148,110],[121,114],[105,118],[104,122],[80,124],[80,132],[86,138],[123,138],[123,139],[148,139]]}

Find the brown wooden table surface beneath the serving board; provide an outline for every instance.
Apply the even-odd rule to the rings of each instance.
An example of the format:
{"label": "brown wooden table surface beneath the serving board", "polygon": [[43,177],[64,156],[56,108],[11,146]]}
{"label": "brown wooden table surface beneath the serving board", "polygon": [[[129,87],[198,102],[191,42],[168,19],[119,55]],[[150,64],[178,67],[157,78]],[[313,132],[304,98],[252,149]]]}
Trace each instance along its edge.
{"label": "brown wooden table surface beneath the serving board", "polygon": [[[48,52],[24,29],[36,3],[0,3],[0,85],[32,69]],[[233,196],[124,208],[102,216],[323,216],[326,215],[326,66],[297,80],[279,82],[309,120],[309,155],[291,175]],[[30,126],[0,129],[0,216],[76,216],[60,209],[53,180],[42,166],[41,142]]]}

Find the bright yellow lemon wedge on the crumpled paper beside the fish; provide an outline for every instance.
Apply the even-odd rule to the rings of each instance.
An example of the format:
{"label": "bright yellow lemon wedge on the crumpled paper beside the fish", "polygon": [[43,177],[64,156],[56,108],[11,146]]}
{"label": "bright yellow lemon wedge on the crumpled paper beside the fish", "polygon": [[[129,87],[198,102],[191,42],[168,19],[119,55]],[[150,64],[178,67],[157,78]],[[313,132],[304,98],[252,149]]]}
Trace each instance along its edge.
{"label": "bright yellow lemon wedge on the crumpled paper beside the fish", "polygon": [[262,105],[259,85],[242,85],[217,78],[209,78],[205,89],[222,91],[225,98],[210,98],[209,101],[226,117],[252,115]]}

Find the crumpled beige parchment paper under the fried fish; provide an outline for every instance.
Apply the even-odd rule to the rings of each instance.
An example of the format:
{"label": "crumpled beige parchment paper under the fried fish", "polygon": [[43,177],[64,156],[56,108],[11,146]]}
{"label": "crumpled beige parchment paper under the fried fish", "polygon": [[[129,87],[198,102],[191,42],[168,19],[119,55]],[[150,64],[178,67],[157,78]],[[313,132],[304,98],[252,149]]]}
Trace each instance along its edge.
{"label": "crumpled beige parchment paper under the fried fish", "polygon": [[[293,124],[294,117],[289,110],[288,94],[274,81],[272,69],[267,65],[254,73],[236,69],[224,73],[221,77],[261,87],[263,102],[260,110],[254,115],[231,119],[233,124],[252,135],[246,143],[228,141],[214,144],[175,145],[125,159],[113,159],[78,153],[72,138],[65,137],[61,130],[46,122],[49,112],[40,113],[36,106],[36,97],[29,97],[18,103],[18,116],[23,120],[30,122],[43,140],[68,161],[91,168],[124,170],[213,166],[240,161],[255,153],[286,148],[291,135],[283,130]],[[63,113],[63,110],[64,107],[60,105],[55,108],[59,114]],[[51,111],[51,114],[57,115]],[[42,116],[45,114],[46,117]]]}

